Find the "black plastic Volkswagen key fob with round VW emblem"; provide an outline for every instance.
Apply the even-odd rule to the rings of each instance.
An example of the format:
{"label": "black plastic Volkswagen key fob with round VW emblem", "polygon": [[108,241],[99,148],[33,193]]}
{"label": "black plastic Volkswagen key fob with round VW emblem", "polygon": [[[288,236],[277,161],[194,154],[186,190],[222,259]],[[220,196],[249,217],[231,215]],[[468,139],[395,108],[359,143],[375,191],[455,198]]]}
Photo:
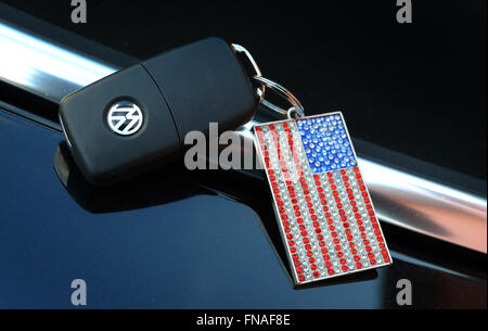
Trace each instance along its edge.
{"label": "black plastic Volkswagen key fob with round VW emblem", "polygon": [[93,184],[120,181],[182,157],[184,136],[248,122],[257,98],[229,44],[204,39],[107,76],[65,97],[60,120]]}

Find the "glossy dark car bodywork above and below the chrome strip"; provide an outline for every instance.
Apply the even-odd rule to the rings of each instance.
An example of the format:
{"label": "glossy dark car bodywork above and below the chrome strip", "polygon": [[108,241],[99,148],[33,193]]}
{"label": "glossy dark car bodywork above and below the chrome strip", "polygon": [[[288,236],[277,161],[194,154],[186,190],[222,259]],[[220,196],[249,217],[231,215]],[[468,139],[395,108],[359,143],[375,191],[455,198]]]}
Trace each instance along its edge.
{"label": "glossy dark car bodywork above and below the chrome strip", "polygon": [[[486,196],[485,2],[419,3],[411,27],[395,22],[395,5],[370,2],[100,1],[86,26],[60,1],[2,2],[12,7],[0,4],[1,18],[119,66],[209,35],[239,41],[309,114],[343,109],[359,154]],[[120,22],[129,14],[131,25]],[[486,254],[388,224],[393,266],[294,288],[262,180],[175,164],[91,187],[55,110],[0,86],[2,308],[70,308],[77,278],[90,308],[401,308],[400,279],[414,308],[486,308]]]}

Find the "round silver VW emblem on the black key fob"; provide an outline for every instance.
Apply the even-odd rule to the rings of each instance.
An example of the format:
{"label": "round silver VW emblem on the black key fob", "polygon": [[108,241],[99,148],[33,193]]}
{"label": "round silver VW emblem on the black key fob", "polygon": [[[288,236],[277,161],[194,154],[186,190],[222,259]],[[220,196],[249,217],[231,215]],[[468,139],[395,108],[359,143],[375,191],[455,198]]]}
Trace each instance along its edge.
{"label": "round silver VW emblem on the black key fob", "polygon": [[120,136],[130,136],[139,131],[144,120],[139,106],[131,101],[118,101],[108,110],[108,127]]}

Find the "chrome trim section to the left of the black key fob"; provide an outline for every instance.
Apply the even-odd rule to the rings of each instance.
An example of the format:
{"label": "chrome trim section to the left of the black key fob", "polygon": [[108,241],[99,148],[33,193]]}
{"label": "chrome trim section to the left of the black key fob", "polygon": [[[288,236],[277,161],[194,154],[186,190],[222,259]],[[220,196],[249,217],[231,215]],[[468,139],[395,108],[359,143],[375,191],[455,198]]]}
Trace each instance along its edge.
{"label": "chrome trim section to the left of the black key fob", "polygon": [[116,72],[0,20],[0,79],[53,102]]}

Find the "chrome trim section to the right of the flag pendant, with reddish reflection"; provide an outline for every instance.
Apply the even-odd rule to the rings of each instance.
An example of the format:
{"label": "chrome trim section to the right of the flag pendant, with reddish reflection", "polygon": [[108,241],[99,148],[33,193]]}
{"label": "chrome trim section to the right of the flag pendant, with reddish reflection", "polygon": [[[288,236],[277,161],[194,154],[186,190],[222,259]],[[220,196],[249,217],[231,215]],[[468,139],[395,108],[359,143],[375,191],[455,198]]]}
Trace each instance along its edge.
{"label": "chrome trim section to the right of the flag pendant, with reddish reflection", "polygon": [[485,198],[364,158],[359,163],[382,221],[487,253]]}

